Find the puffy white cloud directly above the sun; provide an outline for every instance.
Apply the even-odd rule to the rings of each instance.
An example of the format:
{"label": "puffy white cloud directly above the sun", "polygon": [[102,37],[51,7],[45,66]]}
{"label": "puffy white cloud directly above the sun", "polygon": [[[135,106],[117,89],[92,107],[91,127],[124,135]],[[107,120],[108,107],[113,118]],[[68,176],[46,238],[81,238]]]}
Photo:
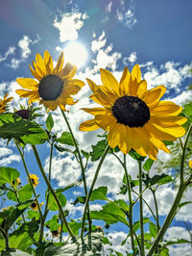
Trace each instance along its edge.
{"label": "puffy white cloud directly above the sun", "polygon": [[85,13],[63,13],[61,20],[57,17],[54,26],[60,31],[60,41],[75,40],[78,38],[78,31],[84,26],[84,20],[88,16]]}

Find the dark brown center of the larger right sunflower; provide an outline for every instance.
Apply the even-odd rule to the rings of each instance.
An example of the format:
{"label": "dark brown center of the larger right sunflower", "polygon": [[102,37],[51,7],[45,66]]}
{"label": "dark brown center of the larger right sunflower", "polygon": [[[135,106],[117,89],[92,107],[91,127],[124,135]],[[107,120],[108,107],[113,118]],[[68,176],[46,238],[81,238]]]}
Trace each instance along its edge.
{"label": "dark brown center of the larger right sunflower", "polygon": [[146,103],[133,96],[118,98],[112,107],[112,114],[118,123],[129,127],[142,127],[150,119],[150,109]]}

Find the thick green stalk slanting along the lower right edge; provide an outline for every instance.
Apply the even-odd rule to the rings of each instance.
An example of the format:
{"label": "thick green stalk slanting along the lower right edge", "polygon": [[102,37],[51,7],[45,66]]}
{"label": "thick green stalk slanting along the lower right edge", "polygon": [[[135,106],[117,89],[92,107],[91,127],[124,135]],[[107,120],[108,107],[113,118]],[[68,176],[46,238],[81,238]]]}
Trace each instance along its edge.
{"label": "thick green stalk slanting along the lower right edge", "polygon": [[191,134],[191,131],[192,131],[192,124],[189,126],[189,129],[188,129],[186,137],[185,137],[185,141],[183,143],[182,155],[181,155],[181,160],[180,160],[180,186],[179,186],[178,193],[177,193],[176,198],[174,200],[174,203],[173,203],[173,205],[172,205],[172,207],[169,211],[169,214],[168,214],[167,218],[165,219],[161,229],[159,230],[159,232],[156,236],[156,240],[152,244],[152,247],[150,248],[150,251],[149,251],[147,256],[153,255],[154,251],[156,250],[156,248],[158,246],[158,243],[160,243],[160,241],[164,237],[164,234],[165,234],[166,230],[168,229],[168,227],[171,224],[173,218],[177,214],[183,192],[192,183],[191,177],[189,177],[189,179],[184,181],[184,158],[185,158],[186,145],[187,145],[187,142],[189,140],[189,136]]}

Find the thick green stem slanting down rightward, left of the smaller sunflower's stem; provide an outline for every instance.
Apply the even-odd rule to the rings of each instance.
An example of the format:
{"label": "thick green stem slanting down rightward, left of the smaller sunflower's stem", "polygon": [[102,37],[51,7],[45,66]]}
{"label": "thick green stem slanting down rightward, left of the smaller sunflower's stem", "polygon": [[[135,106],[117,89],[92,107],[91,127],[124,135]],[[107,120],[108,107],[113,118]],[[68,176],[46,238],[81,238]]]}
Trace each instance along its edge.
{"label": "thick green stem slanting down rightward, left of the smaller sunflower's stem", "polygon": [[53,196],[54,196],[54,198],[55,198],[55,200],[56,200],[56,202],[57,202],[57,204],[58,204],[58,207],[59,207],[59,209],[60,209],[60,217],[62,218],[62,221],[63,221],[63,223],[65,224],[66,229],[67,229],[69,235],[70,235],[74,240],[76,240],[76,239],[75,239],[75,236],[74,236],[74,234],[73,234],[73,232],[72,232],[72,230],[71,230],[71,228],[70,228],[70,226],[68,225],[68,223],[67,223],[67,221],[66,221],[66,218],[65,218],[65,216],[64,216],[64,213],[63,213],[63,211],[62,211],[62,207],[61,207],[61,205],[60,205],[60,200],[58,199],[58,196],[57,196],[56,192],[53,190],[53,188],[52,188],[52,186],[51,186],[51,184],[50,184],[50,182],[49,182],[49,180],[48,180],[48,178],[47,178],[47,176],[46,176],[46,174],[45,174],[45,171],[44,171],[44,169],[43,169],[43,167],[42,167],[42,164],[41,164],[41,162],[40,162],[40,159],[39,159],[39,156],[38,156],[38,153],[37,153],[37,150],[36,150],[36,146],[35,146],[35,145],[32,145],[32,148],[33,148],[33,150],[34,150],[34,154],[35,154],[35,157],[36,157],[36,162],[37,162],[37,164],[38,164],[38,167],[39,167],[39,169],[40,169],[40,172],[41,172],[41,174],[42,174],[42,176],[43,176],[43,178],[44,178],[44,180],[45,180],[45,182],[46,182],[46,184],[47,184],[48,189],[50,190],[50,192],[52,192],[52,194],[53,194]]}

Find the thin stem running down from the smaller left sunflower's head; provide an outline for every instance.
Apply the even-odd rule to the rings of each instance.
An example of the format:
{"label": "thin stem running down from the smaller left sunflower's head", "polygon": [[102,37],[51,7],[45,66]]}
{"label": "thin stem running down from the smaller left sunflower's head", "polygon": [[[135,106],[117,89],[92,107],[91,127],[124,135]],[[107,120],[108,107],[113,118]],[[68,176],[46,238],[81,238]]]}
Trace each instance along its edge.
{"label": "thin stem running down from the smaller left sunflower's head", "polygon": [[[70,134],[71,134],[72,140],[73,140],[73,142],[74,142],[74,145],[75,145],[75,148],[76,148],[78,157],[79,157],[79,161],[80,161],[79,163],[80,163],[80,166],[81,166],[81,168],[82,168],[82,177],[83,177],[83,181],[84,181],[84,193],[85,193],[85,196],[87,197],[87,187],[86,187],[86,179],[85,179],[85,173],[84,173],[84,164],[83,164],[82,156],[81,156],[81,153],[80,153],[80,150],[79,150],[79,146],[78,146],[78,144],[77,144],[77,141],[75,140],[75,137],[74,137],[74,135],[73,135],[73,131],[72,131],[72,129],[71,129],[71,126],[70,126],[70,124],[69,124],[69,122],[68,122],[68,119],[67,119],[65,113],[64,113],[63,110],[61,110],[61,109],[60,109],[60,111],[61,111],[61,114],[62,114],[62,116],[63,116],[63,118],[64,118],[64,120],[65,120],[65,122],[66,122],[66,125],[67,125],[67,127],[68,127],[68,130],[69,130],[69,132],[70,132]],[[91,231],[91,224],[92,224],[92,223],[91,223],[91,218],[90,218],[89,205],[87,205],[87,218],[88,218],[88,227],[89,227],[89,231]]]}

